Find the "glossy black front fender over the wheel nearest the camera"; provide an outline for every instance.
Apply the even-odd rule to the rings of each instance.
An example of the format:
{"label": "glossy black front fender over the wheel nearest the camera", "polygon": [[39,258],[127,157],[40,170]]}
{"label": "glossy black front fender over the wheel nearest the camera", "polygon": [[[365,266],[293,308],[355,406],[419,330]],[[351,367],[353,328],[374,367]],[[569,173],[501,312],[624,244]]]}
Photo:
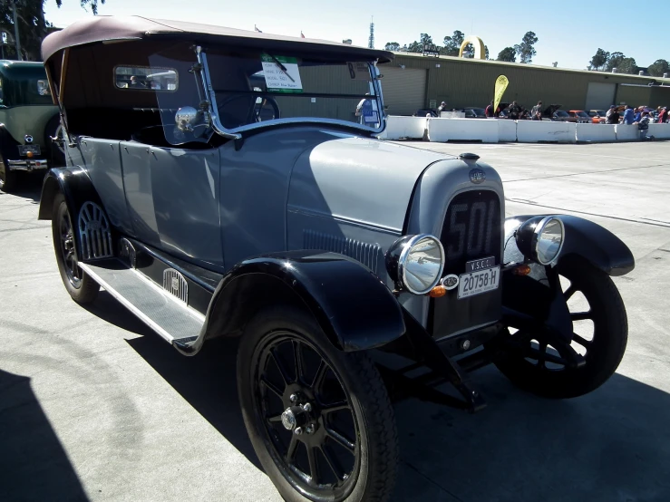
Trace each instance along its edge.
{"label": "glossy black front fender over the wheel nearest the camera", "polygon": [[287,251],[247,259],[215,290],[197,340],[175,344],[187,355],[206,339],[234,336],[259,309],[297,302],[345,352],[380,347],[405,333],[403,309],[384,283],[360,262],[336,253]]}

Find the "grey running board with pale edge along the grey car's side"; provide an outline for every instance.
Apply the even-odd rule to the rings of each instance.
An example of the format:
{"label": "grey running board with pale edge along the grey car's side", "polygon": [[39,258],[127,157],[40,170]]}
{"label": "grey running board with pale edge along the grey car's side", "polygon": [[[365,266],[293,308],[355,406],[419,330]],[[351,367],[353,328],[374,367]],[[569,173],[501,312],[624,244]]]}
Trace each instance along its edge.
{"label": "grey running board with pale edge along the grey car's side", "polygon": [[116,258],[80,263],[79,266],[166,342],[184,347],[198,338],[205,323],[204,315],[146,275]]}

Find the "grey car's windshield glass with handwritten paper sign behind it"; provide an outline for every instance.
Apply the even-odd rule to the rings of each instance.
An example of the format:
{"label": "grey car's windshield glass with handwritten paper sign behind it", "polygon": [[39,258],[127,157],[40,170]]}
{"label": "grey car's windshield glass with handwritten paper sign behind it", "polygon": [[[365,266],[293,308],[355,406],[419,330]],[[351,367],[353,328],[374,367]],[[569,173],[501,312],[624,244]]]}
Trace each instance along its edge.
{"label": "grey car's windshield glass with handwritten paper sign behind it", "polygon": [[208,54],[221,124],[228,130],[258,122],[326,119],[377,129],[367,62],[324,62],[281,51]]}

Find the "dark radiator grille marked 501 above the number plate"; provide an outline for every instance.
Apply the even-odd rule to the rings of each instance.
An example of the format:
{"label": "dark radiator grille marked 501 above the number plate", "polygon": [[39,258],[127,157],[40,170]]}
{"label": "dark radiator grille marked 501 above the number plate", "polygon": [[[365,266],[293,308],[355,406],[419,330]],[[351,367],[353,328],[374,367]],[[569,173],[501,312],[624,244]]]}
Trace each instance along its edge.
{"label": "dark radiator grille marked 501 above the number plate", "polygon": [[465,262],[494,256],[500,264],[502,222],[500,198],[490,190],[457,195],[447,209],[440,240],[444,246],[445,274],[462,274]]}

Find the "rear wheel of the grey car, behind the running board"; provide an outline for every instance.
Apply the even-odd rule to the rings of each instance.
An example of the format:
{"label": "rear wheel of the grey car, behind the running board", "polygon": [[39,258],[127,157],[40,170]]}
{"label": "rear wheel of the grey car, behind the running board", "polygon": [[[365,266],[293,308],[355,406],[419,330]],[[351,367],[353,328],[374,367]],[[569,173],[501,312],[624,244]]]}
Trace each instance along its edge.
{"label": "rear wheel of the grey car, behind the running board", "polygon": [[63,285],[75,302],[91,303],[98,295],[100,286],[79,267],[75,229],[63,194],[54,198],[52,215],[53,250]]}

